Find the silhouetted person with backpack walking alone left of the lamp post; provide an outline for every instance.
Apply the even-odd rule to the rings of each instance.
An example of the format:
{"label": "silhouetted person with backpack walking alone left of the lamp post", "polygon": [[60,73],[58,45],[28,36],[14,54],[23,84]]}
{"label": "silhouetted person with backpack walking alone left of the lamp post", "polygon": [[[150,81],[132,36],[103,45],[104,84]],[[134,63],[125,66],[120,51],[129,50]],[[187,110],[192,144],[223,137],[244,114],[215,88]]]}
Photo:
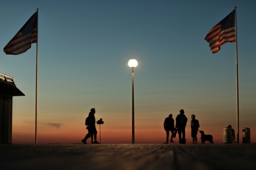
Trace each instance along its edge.
{"label": "silhouetted person with backpack walking alone left of the lamp post", "polygon": [[[87,126],[86,129],[88,130],[88,134],[85,135],[84,139],[81,141],[82,143],[86,144],[86,140],[88,138],[91,139],[91,144],[99,144],[97,142],[97,130],[95,127],[95,116],[96,113],[95,109],[90,109],[90,113],[88,117],[85,119],[85,125]],[[94,142],[93,142],[94,137]]]}

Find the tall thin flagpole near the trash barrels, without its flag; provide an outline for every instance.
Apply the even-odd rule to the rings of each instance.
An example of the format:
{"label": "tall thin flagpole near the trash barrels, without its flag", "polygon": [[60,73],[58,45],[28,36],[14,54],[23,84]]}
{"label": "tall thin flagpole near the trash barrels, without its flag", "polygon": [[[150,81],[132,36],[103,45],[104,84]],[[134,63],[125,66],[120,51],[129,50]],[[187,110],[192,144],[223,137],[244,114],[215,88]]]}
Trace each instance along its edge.
{"label": "tall thin flagpole near the trash barrels, without its flag", "polygon": [[236,6],[234,7],[235,16],[235,56],[236,56],[236,131],[237,131],[237,144],[239,144],[239,98],[238,98],[238,60],[237,60],[237,27],[236,27]]}

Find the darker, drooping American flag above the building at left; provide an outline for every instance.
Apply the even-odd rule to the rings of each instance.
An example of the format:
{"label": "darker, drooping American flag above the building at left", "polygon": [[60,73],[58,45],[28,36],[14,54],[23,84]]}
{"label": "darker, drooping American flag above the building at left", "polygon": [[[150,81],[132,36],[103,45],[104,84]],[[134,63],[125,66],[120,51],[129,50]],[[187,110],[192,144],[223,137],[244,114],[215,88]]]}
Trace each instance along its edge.
{"label": "darker, drooping American flag above the building at left", "polygon": [[37,11],[26,21],[22,28],[3,48],[5,54],[21,54],[37,43]]}

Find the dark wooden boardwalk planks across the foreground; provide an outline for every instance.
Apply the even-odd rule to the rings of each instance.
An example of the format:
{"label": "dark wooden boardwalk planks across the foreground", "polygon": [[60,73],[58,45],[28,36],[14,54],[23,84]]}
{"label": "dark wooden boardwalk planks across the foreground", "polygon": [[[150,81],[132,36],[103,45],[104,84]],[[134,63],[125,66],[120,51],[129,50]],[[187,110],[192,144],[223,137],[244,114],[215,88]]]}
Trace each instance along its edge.
{"label": "dark wooden boardwalk planks across the foreground", "polygon": [[0,170],[253,170],[256,144],[0,144]]}

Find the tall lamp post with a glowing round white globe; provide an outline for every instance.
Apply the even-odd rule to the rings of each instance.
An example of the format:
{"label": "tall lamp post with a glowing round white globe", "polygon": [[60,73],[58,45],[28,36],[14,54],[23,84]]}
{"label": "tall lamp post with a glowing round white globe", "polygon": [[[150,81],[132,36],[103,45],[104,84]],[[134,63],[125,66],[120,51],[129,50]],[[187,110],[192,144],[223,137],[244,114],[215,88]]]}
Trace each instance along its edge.
{"label": "tall lamp post with a glowing round white globe", "polygon": [[133,69],[138,65],[135,59],[130,59],[128,62],[129,67],[131,67],[131,76],[132,76],[132,113],[131,113],[131,140],[134,144],[134,86],[133,86]]}

